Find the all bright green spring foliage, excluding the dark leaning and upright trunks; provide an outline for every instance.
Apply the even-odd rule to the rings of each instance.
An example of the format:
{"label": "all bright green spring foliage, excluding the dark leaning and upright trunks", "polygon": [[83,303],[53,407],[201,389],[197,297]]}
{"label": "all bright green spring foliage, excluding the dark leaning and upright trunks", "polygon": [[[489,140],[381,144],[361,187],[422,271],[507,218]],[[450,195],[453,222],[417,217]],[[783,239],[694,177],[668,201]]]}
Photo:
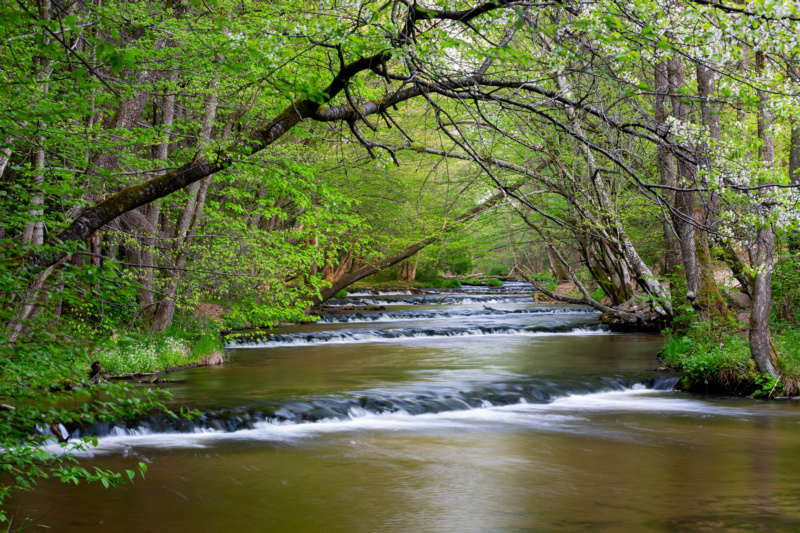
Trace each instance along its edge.
{"label": "all bright green spring foliage, excluding the dark leaning and upright trunks", "polygon": [[[543,5],[536,17],[523,17],[515,3],[489,2],[488,12],[469,23],[412,17],[413,39],[391,35],[400,22],[396,17],[403,16],[403,3],[392,9],[375,2],[356,4],[213,0],[165,10],[163,4],[134,0],[124,5],[89,2],[70,10],[53,4],[44,13],[44,4],[32,9],[24,2],[0,3],[0,149],[10,154],[0,173],[0,357],[5,364],[0,400],[17,407],[0,417],[0,448],[8,464],[16,465],[0,467],[5,468],[0,473],[13,476],[10,486],[29,487],[43,471],[58,472],[70,483],[85,479],[105,485],[120,479],[76,469],[69,455],[37,456],[46,439],[36,436],[35,428],[62,420],[119,419],[163,407],[157,394],[98,388],[85,376],[93,356],[109,367],[136,370],[185,359],[184,348],[194,341],[175,332],[147,341],[123,337],[108,342],[119,331],[150,334],[157,322],[153,294],[173,295],[179,314],[189,316],[200,302],[225,302],[222,321],[232,329],[303,319],[309,300],[325,283],[323,271],[353,258],[368,264],[410,242],[441,235],[456,213],[475,207],[500,183],[521,183],[528,205],[514,200],[499,209],[508,217],[484,217],[464,232],[447,233],[446,242],[419,258],[423,283],[455,288],[457,280],[442,276],[465,275],[479,265],[491,265],[490,275],[503,275],[507,269],[500,263],[512,259],[527,261],[533,270],[546,268],[542,241],[578,250],[576,237],[583,243],[592,234],[628,235],[646,262],[661,261],[665,211],[647,186],[660,180],[657,151],[646,142],[649,134],[631,134],[635,127],[620,124],[654,123],[648,80],[652,66],[666,60],[665,52],[684,58],[686,65],[706,60],[716,65],[714,99],[722,138],[711,142],[704,138],[705,128],[693,131],[689,126],[696,121],[676,121],[670,136],[687,146],[708,147],[703,157],[714,161],[714,171],[700,174],[721,199],[723,233],[738,233],[747,241],[752,228],[765,222],[796,225],[790,216],[796,198],[789,189],[741,192],[750,184],[788,182],[781,165],[755,157],[763,141],[754,117],[765,104],[778,136],[787,135],[788,128],[780,126],[800,115],[796,99],[786,94],[786,87],[794,85],[789,76],[795,72],[798,32],[780,2],[754,3],[748,7],[756,10],[754,16],[706,5],[676,8],[663,16],[663,2],[643,1],[599,1],[563,16],[562,4],[554,3]],[[433,2],[431,7],[438,4],[448,11],[474,7],[465,2]],[[778,19],[780,24],[772,24]],[[495,46],[509,23],[522,33]],[[542,38],[527,38],[525,32]],[[332,50],[341,55],[336,58]],[[340,62],[387,50],[392,57],[379,62],[385,79],[364,71],[339,78],[346,94],[326,93],[331,80],[344,72]],[[753,50],[771,58],[767,75],[742,71],[741,65],[753,64]],[[419,80],[435,87],[441,80],[461,78],[468,65],[483,64],[488,70],[476,80],[502,79],[510,87],[482,87],[479,81],[470,86],[476,94],[466,99],[450,98],[449,90],[425,89],[419,103],[382,108],[383,122],[398,127],[384,128],[375,120],[378,131],[361,128],[369,140],[355,139],[361,121],[350,122],[353,135],[348,136],[347,128],[320,127],[306,114],[307,120],[286,131],[269,152],[252,153],[277,131],[261,129],[270,119],[299,111],[290,106],[281,114],[289,103],[302,107],[308,99],[328,109],[351,105],[353,98],[374,103]],[[409,65],[415,65],[413,71]],[[176,79],[169,77],[172,72]],[[568,78],[572,94],[567,96],[577,102],[574,113],[568,113],[572,106],[566,101],[552,105],[553,91],[564,94],[552,72]],[[690,80],[678,94],[696,107],[693,84]],[[162,120],[170,94],[177,95],[181,109],[172,138]],[[139,116],[118,124],[114,117],[123,103],[139,96],[145,97]],[[212,100],[219,101],[219,111],[206,127],[203,117]],[[481,108],[464,107],[474,102]],[[531,114],[534,108],[538,111]],[[617,125],[599,127],[597,109],[603,110],[602,120],[614,117]],[[739,113],[749,118],[742,120]],[[480,127],[475,125],[478,115]],[[369,121],[376,118],[363,122],[374,126]],[[584,134],[575,133],[580,131],[576,127],[570,130],[574,135],[564,135],[563,128],[553,127],[573,121],[585,122]],[[207,141],[200,140],[204,130],[210,131]],[[260,133],[245,138],[252,130]],[[785,146],[786,140],[779,137],[776,145]],[[370,157],[364,157],[365,144],[372,147]],[[168,145],[166,155],[158,156],[165,160],[152,157],[161,145]],[[431,157],[424,153],[427,147],[453,157]],[[587,149],[596,161],[587,157]],[[394,168],[388,153],[404,164]],[[475,157],[457,157],[467,153]],[[98,163],[109,154],[113,163]],[[500,165],[498,157],[509,164]],[[83,242],[85,235],[77,239],[81,242],[56,248],[22,242],[35,227],[53,237],[83,208],[117,191],[139,190],[143,180],[165,168],[222,160],[226,168],[205,182],[205,210],[192,213],[197,225],[188,233],[178,233],[178,222],[197,200],[184,189],[159,200],[158,228],[137,222],[139,210],[107,221],[99,242]],[[227,166],[229,161],[235,164]],[[526,217],[524,224],[517,214]],[[530,238],[529,224],[538,236]],[[34,279],[23,262],[53,252],[64,252],[69,260],[47,271],[47,279]],[[146,265],[155,275],[143,288],[147,276],[136,265],[142,265],[137,260],[145,254],[155,256],[154,264]],[[785,369],[796,368],[791,354],[800,353],[793,329],[800,313],[797,266],[796,256],[782,258],[775,271],[773,317]],[[178,279],[176,272],[183,277]],[[375,279],[396,275],[387,271]],[[556,288],[549,274],[537,279]],[[740,336],[694,325],[694,310],[678,296],[686,292],[682,279],[678,273],[672,287],[675,302],[683,304],[677,316],[680,338],[688,340],[675,341],[665,353],[698,378],[745,371],[742,365],[749,362],[742,362]],[[36,287],[28,290],[32,284]],[[163,324],[157,327],[164,329]],[[196,327],[202,330],[203,325]],[[218,341],[198,342],[211,350]],[[769,383],[761,385],[763,390]],[[96,401],[100,393],[109,400]],[[53,407],[77,405],[76,397],[82,407]]]}

